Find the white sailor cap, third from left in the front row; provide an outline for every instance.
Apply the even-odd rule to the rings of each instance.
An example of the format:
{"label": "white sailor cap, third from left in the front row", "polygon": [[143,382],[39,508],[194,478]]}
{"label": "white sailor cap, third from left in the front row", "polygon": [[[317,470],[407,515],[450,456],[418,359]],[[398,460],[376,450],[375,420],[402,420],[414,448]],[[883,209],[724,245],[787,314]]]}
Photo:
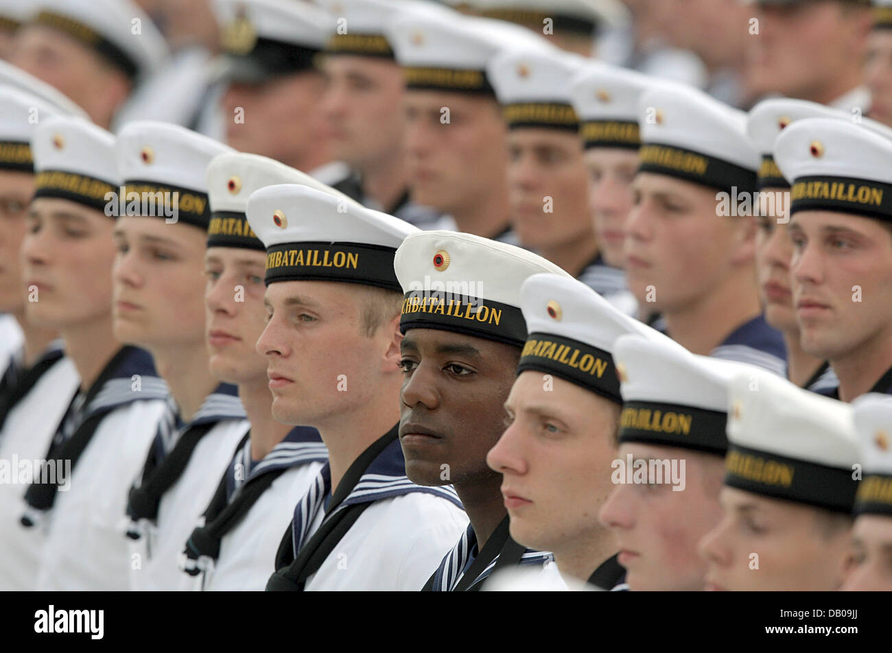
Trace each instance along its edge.
{"label": "white sailor cap, third from left in the front row", "polygon": [[[129,122],[120,130],[115,145],[128,198],[133,193],[144,200],[177,197],[178,220],[202,230],[211,220],[208,164],[224,152],[235,151],[191,129],[154,120]],[[165,216],[157,212],[156,217]]]}

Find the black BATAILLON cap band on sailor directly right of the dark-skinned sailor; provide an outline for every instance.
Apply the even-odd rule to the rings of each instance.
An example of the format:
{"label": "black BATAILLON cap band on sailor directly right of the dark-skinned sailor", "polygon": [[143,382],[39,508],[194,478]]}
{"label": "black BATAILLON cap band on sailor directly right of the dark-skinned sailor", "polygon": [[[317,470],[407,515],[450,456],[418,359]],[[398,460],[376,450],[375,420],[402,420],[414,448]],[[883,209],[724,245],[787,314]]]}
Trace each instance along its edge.
{"label": "black BATAILLON cap band on sailor directly right of the dark-skinned sailor", "polygon": [[560,335],[533,333],[520,354],[517,374],[535,370],[559,376],[616,403],[623,403],[613,356],[608,351]]}

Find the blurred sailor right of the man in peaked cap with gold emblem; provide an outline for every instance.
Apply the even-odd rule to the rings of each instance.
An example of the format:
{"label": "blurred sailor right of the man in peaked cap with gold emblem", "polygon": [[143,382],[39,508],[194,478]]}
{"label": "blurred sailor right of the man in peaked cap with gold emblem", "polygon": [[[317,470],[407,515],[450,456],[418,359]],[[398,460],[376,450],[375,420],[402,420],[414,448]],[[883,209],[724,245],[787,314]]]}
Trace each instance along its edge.
{"label": "blurred sailor right of the man in peaked cap with gold emblem", "polygon": [[362,202],[417,227],[439,214],[412,202],[403,146],[406,83],[384,26],[399,12],[432,11],[436,4],[396,0],[325,0],[334,29],[323,70],[322,100],[332,153],[351,166]]}

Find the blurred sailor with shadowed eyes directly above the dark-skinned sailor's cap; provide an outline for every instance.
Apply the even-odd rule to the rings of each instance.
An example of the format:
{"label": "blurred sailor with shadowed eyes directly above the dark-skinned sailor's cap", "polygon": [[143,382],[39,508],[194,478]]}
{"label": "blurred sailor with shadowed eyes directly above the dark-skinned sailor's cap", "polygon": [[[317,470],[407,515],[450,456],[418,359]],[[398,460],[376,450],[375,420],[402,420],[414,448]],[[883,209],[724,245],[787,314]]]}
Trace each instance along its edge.
{"label": "blurred sailor with shadowed eyes directly above the dark-skinned sailor's cap", "polygon": [[511,222],[521,245],[634,312],[622,272],[604,264],[589,211],[579,120],[568,90],[584,61],[555,50],[507,52],[489,63],[508,124]]}

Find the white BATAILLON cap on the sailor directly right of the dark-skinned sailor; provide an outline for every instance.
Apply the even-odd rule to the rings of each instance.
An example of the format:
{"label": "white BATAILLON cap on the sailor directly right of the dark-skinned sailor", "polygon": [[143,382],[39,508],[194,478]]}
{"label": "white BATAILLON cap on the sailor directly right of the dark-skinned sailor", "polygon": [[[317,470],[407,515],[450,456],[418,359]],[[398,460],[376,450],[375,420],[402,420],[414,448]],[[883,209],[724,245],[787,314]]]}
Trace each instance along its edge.
{"label": "white BATAILLON cap on the sailor directly right of the dark-skinned sailor", "polygon": [[616,338],[637,334],[681,346],[567,275],[528,278],[520,299],[529,335],[517,373],[553,374],[616,403],[623,403],[613,355]]}

